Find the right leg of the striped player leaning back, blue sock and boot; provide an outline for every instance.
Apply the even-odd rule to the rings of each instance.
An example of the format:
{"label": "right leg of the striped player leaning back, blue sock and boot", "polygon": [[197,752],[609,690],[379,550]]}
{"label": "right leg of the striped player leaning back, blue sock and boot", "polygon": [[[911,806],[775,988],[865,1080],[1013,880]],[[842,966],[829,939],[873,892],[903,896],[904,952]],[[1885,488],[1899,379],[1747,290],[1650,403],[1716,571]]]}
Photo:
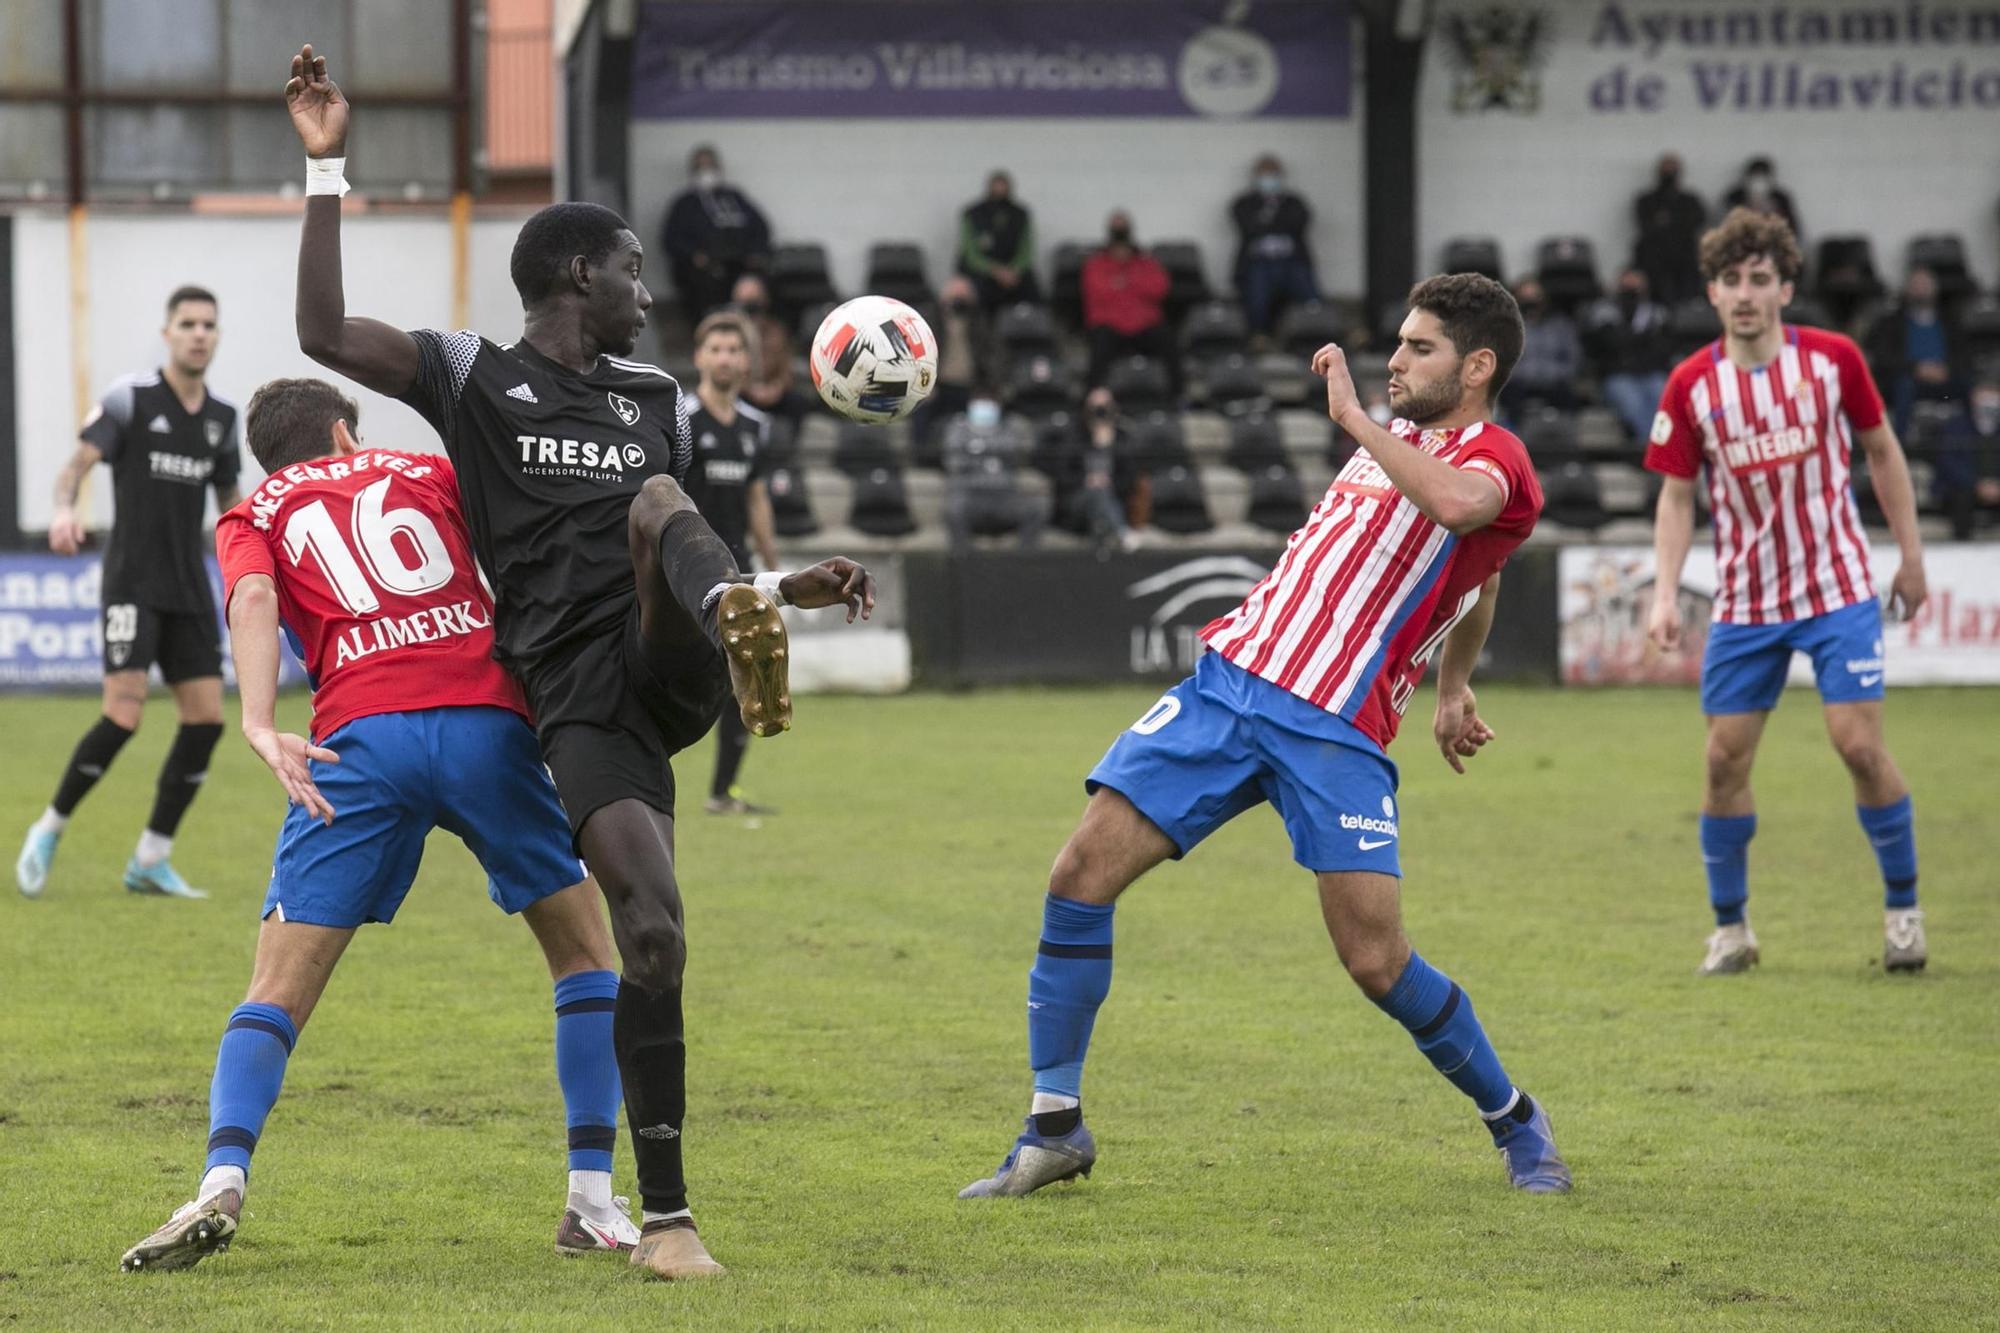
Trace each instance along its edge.
{"label": "right leg of the striped player leaning back, blue sock and boot", "polygon": [[1570,1169],[1556,1151],[1548,1113],[1508,1081],[1458,983],[1404,939],[1396,877],[1322,873],[1320,911],[1334,951],[1362,995],[1402,1023],[1424,1059],[1478,1107],[1514,1189],[1532,1195],[1566,1191]]}

